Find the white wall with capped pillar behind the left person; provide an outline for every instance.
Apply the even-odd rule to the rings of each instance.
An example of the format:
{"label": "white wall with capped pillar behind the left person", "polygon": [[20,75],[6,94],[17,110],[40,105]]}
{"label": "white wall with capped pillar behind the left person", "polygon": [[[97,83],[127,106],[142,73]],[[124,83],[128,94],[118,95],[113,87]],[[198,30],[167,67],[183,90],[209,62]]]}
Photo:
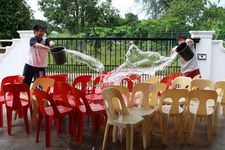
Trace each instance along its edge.
{"label": "white wall with capped pillar behind the left person", "polygon": [[18,33],[20,38],[13,39],[12,45],[6,47],[4,54],[0,54],[0,82],[5,76],[23,74],[29,40],[33,36],[33,31],[18,31]]}

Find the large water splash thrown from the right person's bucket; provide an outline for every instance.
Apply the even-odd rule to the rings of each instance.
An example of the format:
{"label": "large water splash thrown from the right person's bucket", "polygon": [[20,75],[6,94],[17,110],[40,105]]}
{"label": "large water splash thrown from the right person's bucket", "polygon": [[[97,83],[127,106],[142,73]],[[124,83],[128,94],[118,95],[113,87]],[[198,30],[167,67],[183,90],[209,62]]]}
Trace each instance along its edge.
{"label": "large water splash thrown from the right person's bucket", "polygon": [[144,52],[131,42],[126,53],[125,62],[111,71],[103,82],[106,84],[119,84],[123,78],[132,74],[153,76],[156,71],[164,70],[169,66],[176,57],[177,53],[166,57],[160,55],[158,52]]}

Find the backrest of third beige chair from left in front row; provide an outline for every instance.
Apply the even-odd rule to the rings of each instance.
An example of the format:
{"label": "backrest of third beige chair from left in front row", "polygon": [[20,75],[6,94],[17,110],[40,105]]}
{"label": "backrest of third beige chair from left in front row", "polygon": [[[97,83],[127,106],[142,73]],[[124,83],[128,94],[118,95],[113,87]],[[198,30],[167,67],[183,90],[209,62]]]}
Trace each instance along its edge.
{"label": "backrest of third beige chair from left in front row", "polygon": [[171,99],[171,108],[170,108],[170,114],[175,115],[179,114],[179,100],[181,98],[185,98],[185,102],[187,100],[188,90],[186,89],[168,89],[165,90],[162,95],[160,96],[160,103],[158,110],[162,109],[162,105],[164,103],[165,99]]}

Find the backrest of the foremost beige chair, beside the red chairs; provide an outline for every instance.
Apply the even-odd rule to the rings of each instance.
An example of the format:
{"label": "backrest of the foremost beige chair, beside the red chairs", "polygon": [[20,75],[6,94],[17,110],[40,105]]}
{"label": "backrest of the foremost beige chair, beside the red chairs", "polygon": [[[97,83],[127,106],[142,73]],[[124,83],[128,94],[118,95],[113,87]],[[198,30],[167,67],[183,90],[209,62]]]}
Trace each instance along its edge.
{"label": "backrest of the foremost beige chair, beside the red chairs", "polygon": [[[102,90],[102,98],[104,100],[105,104],[105,109],[106,113],[108,115],[108,119],[112,119],[115,116],[119,116],[120,113],[121,115],[127,115],[129,114],[126,104],[124,102],[123,96],[120,93],[119,90],[112,88],[112,87],[107,87]],[[114,101],[119,101],[121,110],[118,112],[117,106],[114,106]]]}

